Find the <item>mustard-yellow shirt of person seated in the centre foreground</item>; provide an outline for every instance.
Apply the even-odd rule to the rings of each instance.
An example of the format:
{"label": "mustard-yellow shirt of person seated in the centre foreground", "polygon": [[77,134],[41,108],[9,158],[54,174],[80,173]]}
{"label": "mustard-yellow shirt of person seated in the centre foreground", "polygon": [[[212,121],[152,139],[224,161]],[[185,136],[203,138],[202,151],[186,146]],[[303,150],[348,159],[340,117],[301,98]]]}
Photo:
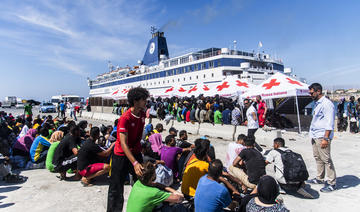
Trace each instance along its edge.
{"label": "mustard-yellow shirt of person seated in the centre foreground", "polygon": [[192,159],[185,168],[181,192],[192,197],[195,196],[197,184],[200,178],[208,172],[208,168],[208,162],[197,158]]}

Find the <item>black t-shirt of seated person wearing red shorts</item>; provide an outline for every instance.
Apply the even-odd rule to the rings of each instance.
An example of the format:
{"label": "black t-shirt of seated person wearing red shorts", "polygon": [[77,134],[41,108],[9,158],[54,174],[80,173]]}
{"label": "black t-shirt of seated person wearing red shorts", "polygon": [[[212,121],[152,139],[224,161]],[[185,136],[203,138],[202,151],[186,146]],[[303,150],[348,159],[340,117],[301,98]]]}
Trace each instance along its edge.
{"label": "black t-shirt of seated person wearing red shorts", "polygon": [[104,151],[94,141],[88,139],[81,146],[78,153],[77,167],[78,170],[85,169],[88,165],[99,162],[98,153]]}

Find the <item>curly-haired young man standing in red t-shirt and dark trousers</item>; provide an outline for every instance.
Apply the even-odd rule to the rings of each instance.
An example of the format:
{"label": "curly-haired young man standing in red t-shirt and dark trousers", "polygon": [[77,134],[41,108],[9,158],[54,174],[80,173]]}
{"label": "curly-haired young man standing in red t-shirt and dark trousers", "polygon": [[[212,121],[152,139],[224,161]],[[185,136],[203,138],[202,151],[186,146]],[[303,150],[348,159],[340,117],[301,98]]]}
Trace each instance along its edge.
{"label": "curly-haired young man standing in red t-shirt and dark trousers", "polygon": [[140,140],[145,125],[146,101],[149,91],[136,87],[127,94],[130,109],[119,119],[117,140],[111,162],[111,177],[108,191],[107,211],[122,211],[124,184],[130,173],[136,181],[142,175],[143,162]]}

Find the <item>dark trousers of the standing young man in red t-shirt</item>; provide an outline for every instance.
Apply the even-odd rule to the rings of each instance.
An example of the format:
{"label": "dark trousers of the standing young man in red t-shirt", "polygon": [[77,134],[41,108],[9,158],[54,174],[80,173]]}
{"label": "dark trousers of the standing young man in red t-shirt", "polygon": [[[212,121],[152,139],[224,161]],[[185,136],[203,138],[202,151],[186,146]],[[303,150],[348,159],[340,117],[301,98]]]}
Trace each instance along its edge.
{"label": "dark trousers of the standing young man in red t-shirt", "polygon": [[[142,163],[142,155],[134,155],[135,159]],[[126,156],[113,154],[111,162],[111,176],[108,191],[107,211],[122,211],[124,205],[124,184],[128,174],[133,175],[134,182],[137,180],[135,170]]]}

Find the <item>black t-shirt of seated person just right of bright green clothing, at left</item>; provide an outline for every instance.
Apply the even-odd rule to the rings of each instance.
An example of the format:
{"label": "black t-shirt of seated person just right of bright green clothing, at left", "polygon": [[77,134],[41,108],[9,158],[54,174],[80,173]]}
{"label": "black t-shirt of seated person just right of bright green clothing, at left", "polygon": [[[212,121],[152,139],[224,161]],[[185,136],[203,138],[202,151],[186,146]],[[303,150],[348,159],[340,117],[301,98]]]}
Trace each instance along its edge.
{"label": "black t-shirt of seated person just right of bright green clothing, at left", "polygon": [[71,134],[66,135],[56,147],[54,152],[53,164],[58,166],[66,158],[72,156],[73,148],[78,148],[80,145],[80,138],[76,138]]}

